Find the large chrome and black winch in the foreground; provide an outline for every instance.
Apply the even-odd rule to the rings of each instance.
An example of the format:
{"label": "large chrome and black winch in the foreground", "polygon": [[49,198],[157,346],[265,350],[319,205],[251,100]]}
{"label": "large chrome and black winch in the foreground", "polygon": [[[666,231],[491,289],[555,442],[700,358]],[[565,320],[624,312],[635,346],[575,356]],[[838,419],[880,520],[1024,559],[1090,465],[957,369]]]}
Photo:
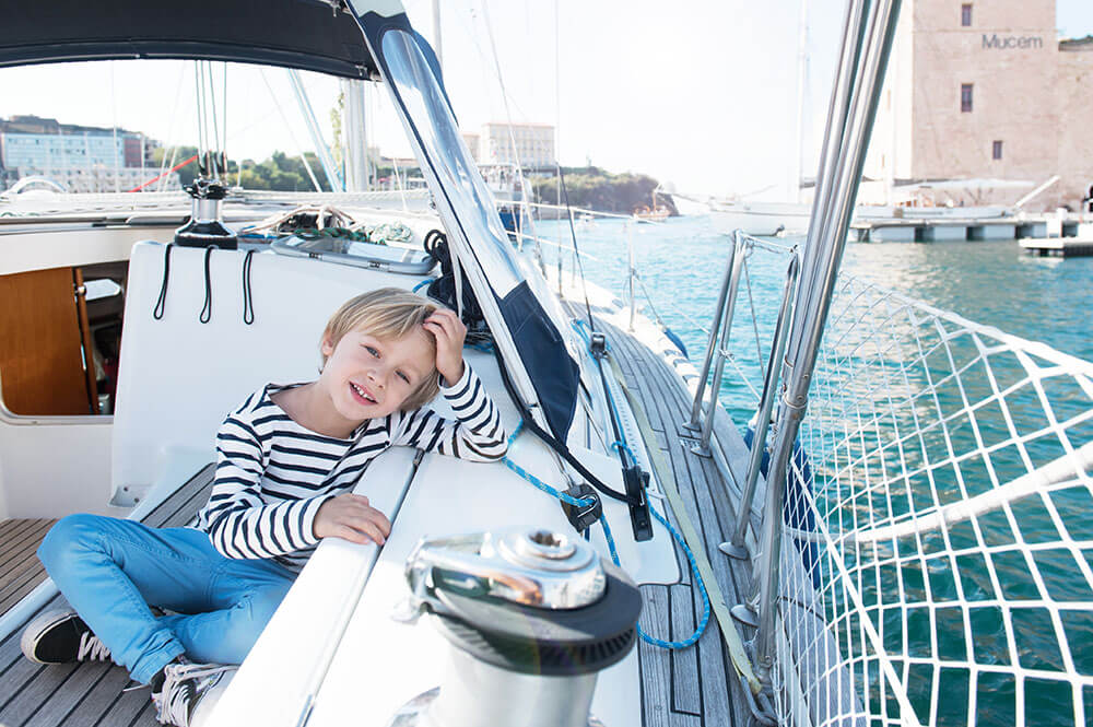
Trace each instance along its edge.
{"label": "large chrome and black winch in the foreground", "polygon": [[584,540],[546,529],[423,539],[407,620],[448,640],[444,682],[390,727],[590,727],[596,677],[637,642],[642,596]]}

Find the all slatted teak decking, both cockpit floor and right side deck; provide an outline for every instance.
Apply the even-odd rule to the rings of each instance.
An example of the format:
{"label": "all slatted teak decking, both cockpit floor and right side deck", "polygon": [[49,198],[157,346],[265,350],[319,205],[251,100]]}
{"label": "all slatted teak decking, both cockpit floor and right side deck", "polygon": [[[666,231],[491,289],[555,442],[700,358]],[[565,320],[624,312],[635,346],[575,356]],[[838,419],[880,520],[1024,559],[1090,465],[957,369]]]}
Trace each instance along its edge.
{"label": "all slatted teak decking, both cockpit floor and right side deck", "polygon": [[[674,471],[675,484],[710,555],[726,602],[729,606],[739,602],[750,577],[750,565],[731,561],[717,551],[717,544],[727,539],[731,527],[732,507],[714,462],[691,452],[693,435],[681,426],[690,411],[690,401],[677,375],[653,351],[623,331],[603,321],[599,321],[597,328],[608,335],[626,385],[645,409],[665,460]],[[157,527],[189,521],[208,496],[211,478],[210,466],[144,521]],[[656,505],[665,507],[661,503]],[[667,515],[674,521],[670,512]],[[44,577],[34,550],[49,525],[50,520],[23,520],[2,526],[4,532],[16,533],[15,540],[23,544],[17,553],[14,550],[11,553],[11,558],[20,559],[19,563],[5,560],[0,567],[4,572],[19,570],[20,573],[39,568],[33,582],[21,582],[24,584],[22,593],[28,593]],[[20,540],[19,533],[25,538]],[[702,613],[698,590],[693,585],[686,559],[678,548],[675,556],[680,583],[642,586],[645,597],[642,629],[663,640],[686,638]],[[63,599],[58,596],[44,609],[63,606]],[[104,664],[33,664],[20,652],[21,632],[20,628],[0,642],[0,684],[3,685],[0,724],[7,727],[156,724],[146,690],[122,692],[130,684],[125,669]],[[720,727],[749,723],[744,695],[713,618],[695,646],[672,652],[642,642],[638,661],[645,727]]]}

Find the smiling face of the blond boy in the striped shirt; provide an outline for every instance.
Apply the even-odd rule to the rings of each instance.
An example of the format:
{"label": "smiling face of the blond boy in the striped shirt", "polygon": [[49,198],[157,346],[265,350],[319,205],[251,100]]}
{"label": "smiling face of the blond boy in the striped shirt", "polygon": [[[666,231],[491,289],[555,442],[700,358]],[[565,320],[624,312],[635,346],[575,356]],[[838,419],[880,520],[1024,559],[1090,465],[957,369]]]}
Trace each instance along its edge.
{"label": "smiling face of the blond boy in the striped shirt", "polygon": [[319,382],[338,413],[359,424],[398,411],[427,377],[436,376],[428,337],[425,329],[384,339],[352,330],[337,344],[324,337],[327,363]]}

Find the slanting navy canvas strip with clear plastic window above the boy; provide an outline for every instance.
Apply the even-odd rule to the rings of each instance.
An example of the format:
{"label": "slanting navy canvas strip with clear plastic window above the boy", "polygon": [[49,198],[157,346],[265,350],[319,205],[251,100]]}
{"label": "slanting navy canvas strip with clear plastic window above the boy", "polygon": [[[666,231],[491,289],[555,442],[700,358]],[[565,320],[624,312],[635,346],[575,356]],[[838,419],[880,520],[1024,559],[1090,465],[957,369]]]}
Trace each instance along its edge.
{"label": "slanting navy canvas strip with clear plastic window above the boy", "polygon": [[449,234],[471,250],[473,260],[462,265],[477,265],[489,273],[489,289],[474,292],[480,302],[494,300],[501,310],[503,321],[490,320],[486,310],[486,323],[495,336],[503,325],[515,343],[519,360],[509,355],[505,363],[509,370],[522,367],[538,399],[524,403],[538,403],[551,433],[565,442],[577,406],[579,367],[536,295],[542,291],[541,279],[527,274],[513,251],[493,197],[459,133],[436,57],[406,13],[385,17],[364,12],[360,21],[430,181],[437,212]]}

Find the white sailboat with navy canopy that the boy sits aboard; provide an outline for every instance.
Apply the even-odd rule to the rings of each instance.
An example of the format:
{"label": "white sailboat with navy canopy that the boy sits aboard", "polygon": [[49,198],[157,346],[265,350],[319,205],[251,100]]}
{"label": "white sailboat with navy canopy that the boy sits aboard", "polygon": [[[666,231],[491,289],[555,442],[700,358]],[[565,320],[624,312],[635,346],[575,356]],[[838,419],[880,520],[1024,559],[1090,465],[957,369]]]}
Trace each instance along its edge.
{"label": "white sailboat with navy canopy that the boy sits aboard", "polygon": [[[513,250],[436,59],[397,0],[7,3],[0,65],[138,56],[377,82],[435,211],[369,195],[232,198],[215,179],[190,200],[4,200],[0,291],[32,302],[0,306],[23,327],[4,331],[4,350],[49,342],[61,364],[24,356],[22,378],[0,365],[0,724],[154,724],[122,669],[20,655],[22,628],[63,606],[37,542],[73,512],[191,523],[214,478],[216,427],[240,396],[314,375],[317,326],[351,295],[447,274],[460,314],[472,296],[481,309],[466,357],[510,433],[506,460],[398,447],[376,459],[355,491],[390,515],[391,537],[324,541],[200,724],[972,724],[991,684],[1020,695],[1014,724],[1033,703],[1037,722],[1084,724],[1085,626],[1063,623],[1091,608],[1081,553],[1093,543],[1080,528],[1093,366],[837,274],[897,10],[848,4],[808,245],[734,234],[696,366],[633,293],[620,301]],[[408,234],[324,239],[314,231],[332,203]],[[263,233],[240,238],[248,225]],[[422,251],[440,238],[446,262]],[[749,447],[717,394],[756,251],[787,263]],[[86,315],[77,273],[124,283],[106,296],[120,321]],[[92,332],[101,315],[120,324],[116,361]],[[114,413],[95,414],[93,362],[107,360]],[[999,375],[984,378],[991,365]],[[942,395],[960,406],[945,410]],[[1007,413],[980,430],[988,404]],[[930,459],[939,442],[947,454]],[[1026,539],[1013,514],[1030,496],[1073,532]],[[1079,556],[1041,565],[1047,550]],[[954,576],[976,558],[985,577]],[[1027,587],[1015,568],[995,570],[1013,558],[1037,588],[1043,567],[1050,593],[1007,590]],[[1048,614],[1061,666],[1019,658],[1036,631],[1014,628],[1029,609]],[[968,635],[963,652],[937,647],[947,619]],[[1013,658],[976,652],[983,630],[1003,633]]]}

